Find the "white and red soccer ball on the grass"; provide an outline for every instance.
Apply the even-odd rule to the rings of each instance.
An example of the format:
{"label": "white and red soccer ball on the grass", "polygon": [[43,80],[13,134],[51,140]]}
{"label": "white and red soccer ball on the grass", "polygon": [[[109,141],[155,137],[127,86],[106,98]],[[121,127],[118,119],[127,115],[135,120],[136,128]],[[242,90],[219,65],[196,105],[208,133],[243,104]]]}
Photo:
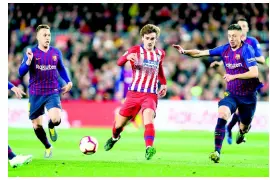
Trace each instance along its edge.
{"label": "white and red soccer ball on the grass", "polygon": [[91,136],[84,136],[80,141],[80,150],[83,154],[94,154],[98,150],[98,141]]}

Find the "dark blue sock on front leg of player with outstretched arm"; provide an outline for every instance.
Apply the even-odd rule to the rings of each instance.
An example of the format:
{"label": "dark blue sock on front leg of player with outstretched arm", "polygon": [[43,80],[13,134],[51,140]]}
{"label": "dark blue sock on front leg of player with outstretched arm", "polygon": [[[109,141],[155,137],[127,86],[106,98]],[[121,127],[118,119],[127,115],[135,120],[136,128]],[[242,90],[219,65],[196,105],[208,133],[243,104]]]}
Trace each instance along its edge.
{"label": "dark blue sock on front leg of player with outstretched arm", "polygon": [[225,125],[227,121],[221,118],[218,118],[218,122],[215,129],[215,151],[220,153],[222,142],[225,137]]}

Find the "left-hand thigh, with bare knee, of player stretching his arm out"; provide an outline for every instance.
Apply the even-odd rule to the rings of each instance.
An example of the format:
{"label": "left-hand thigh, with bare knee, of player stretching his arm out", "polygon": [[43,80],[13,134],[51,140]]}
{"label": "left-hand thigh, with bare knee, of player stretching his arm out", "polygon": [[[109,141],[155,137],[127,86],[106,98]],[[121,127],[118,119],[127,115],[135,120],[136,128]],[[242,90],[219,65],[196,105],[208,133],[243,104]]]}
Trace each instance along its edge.
{"label": "left-hand thigh, with bare knee, of player stretching his arm out", "polygon": [[236,99],[226,96],[218,103],[218,117],[228,120],[237,109]]}

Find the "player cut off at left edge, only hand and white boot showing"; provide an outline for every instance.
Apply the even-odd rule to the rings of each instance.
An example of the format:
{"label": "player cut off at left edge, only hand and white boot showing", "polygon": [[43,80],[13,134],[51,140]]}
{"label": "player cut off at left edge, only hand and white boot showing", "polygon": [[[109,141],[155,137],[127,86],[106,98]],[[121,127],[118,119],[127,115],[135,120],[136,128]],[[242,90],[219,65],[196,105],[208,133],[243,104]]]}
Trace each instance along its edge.
{"label": "player cut off at left edge, only hand and white boot showing", "polygon": [[[21,99],[25,93],[20,89],[14,86],[11,82],[8,82],[8,89],[13,91],[17,98]],[[32,161],[32,155],[16,155],[10,146],[8,146],[8,160],[11,167],[15,168],[18,166],[22,166],[24,164],[28,164]]]}

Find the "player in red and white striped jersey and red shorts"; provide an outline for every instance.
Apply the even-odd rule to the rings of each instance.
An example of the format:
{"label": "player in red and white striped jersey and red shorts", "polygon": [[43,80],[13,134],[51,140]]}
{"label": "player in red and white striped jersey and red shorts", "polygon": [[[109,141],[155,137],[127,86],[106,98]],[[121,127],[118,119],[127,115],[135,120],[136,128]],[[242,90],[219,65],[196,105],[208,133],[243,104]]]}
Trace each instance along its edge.
{"label": "player in red and white striped jersey and red shorts", "polygon": [[[140,31],[143,44],[129,48],[117,61],[119,66],[123,66],[127,61],[130,62],[133,78],[126,100],[112,128],[112,137],[104,146],[106,151],[110,150],[120,139],[120,133],[125,124],[141,110],[145,126],[145,158],[149,160],[156,153],[156,149],[153,147],[155,138],[153,120],[156,115],[158,96],[164,97],[167,92],[166,78],[162,67],[165,52],[155,48],[159,35],[160,29],[157,26],[145,25]],[[158,80],[161,84],[159,91]]]}

